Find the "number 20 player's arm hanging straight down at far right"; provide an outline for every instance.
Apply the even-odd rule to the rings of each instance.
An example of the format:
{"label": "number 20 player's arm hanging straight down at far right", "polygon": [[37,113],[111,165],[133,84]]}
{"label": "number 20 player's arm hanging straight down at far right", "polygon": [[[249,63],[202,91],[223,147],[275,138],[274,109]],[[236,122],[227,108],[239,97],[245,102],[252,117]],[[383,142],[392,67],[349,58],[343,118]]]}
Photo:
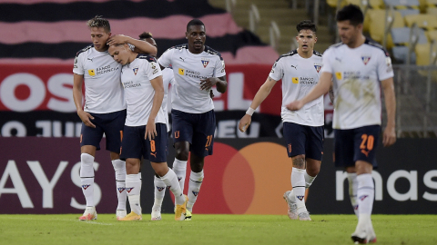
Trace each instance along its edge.
{"label": "number 20 player's arm hanging straight down at far right", "polygon": [[391,146],[396,142],[395,132],[395,114],[396,114],[396,99],[394,95],[393,78],[388,78],[381,81],[382,89],[384,91],[385,109],[387,111],[387,127],[382,136],[382,144],[384,146]]}

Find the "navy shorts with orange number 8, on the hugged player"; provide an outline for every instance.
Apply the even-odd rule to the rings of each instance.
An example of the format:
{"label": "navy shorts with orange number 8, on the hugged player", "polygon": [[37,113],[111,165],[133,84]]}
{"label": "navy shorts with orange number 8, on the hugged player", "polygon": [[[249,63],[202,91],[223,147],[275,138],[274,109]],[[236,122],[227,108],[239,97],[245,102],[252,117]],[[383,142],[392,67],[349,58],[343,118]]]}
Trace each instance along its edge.
{"label": "navy shorts with orange number 8, on the hugged player", "polygon": [[130,127],[125,126],[123,142],[121,143],[120,159],[127,158],[144,159],[150,162],[167,162],[168,155],[168,134],[165,123],[156,123],[158,136],[151,141],[145,139],[146,125]]}

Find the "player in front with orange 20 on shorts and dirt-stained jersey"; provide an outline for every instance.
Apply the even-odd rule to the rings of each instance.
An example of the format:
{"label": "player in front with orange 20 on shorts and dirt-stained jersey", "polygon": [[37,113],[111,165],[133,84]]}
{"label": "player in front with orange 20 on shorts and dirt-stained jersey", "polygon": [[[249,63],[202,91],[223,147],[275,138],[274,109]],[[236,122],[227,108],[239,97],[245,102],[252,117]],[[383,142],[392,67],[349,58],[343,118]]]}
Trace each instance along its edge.
{"label": "player in front with orange 20 on shorts and dirt-stained jersey", "polygon": [[[381,87],[387,110],[387,127],[382,144],[396,142],[395,95],[389,54],[362,34],[364,17],[357,5],[346,5],[337,13],[341,43],[323,55],[320,82],[305,97],[287,105],[291,111],[328,92],[334,82],[335,164],[350,177],[352,205],[356,201],[358,225],[351,235],[355,243],[376,242],[371,224],[374,183],[371,171],[377,167],[375,152],[381,133]],[[353,196],[356,193],[356,197]]]}

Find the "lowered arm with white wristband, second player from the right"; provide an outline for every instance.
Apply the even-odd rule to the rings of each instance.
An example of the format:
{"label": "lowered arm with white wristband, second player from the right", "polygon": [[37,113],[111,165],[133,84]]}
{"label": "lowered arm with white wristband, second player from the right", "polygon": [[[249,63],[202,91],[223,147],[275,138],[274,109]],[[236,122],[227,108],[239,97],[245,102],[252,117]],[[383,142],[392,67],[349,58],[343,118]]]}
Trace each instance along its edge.
{"label": "lowered arm with white wristband, second player from the right", "polygon": [[[271,77],[267,78],[266,82],[264,82],[264,84],[262,84],[259,87],[259,90],[258,90],[257,94],[255,94],[255,97],[253,98],[252,103],[250,103],[250,109],[255,111],[259,107],[259,104],[261,104],[267,98],[267,96],[269,96],[271,89],[276,84],[276,82],[278,82],[278,81],[272,79]],[[250,113],[249,110],[239,120],[239,131],[240,132],[246,132],[249,128],[250,122],[252,122],[251,113],[253,113],[253,112]]]}

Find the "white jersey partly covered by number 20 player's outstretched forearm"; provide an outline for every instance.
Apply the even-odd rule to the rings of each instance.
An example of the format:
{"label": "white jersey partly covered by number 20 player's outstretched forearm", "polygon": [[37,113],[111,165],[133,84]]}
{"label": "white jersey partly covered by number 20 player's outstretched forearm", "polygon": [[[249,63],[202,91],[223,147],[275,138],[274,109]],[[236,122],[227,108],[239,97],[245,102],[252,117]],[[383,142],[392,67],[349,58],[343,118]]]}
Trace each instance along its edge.
{"label": "white jersey partly covered by number 20 player's outstretched forearm", "polygon": [[319,83],[321,54],[313,51],[310,58],[302,58],[297,50],[281,55],[273,64],[269,77],[282,79],[282,106],[280,116],[283,122],[318,127],[324,124],[323,96],[305,104],[299,111],[292,112],[286,105],[305,97]]}

